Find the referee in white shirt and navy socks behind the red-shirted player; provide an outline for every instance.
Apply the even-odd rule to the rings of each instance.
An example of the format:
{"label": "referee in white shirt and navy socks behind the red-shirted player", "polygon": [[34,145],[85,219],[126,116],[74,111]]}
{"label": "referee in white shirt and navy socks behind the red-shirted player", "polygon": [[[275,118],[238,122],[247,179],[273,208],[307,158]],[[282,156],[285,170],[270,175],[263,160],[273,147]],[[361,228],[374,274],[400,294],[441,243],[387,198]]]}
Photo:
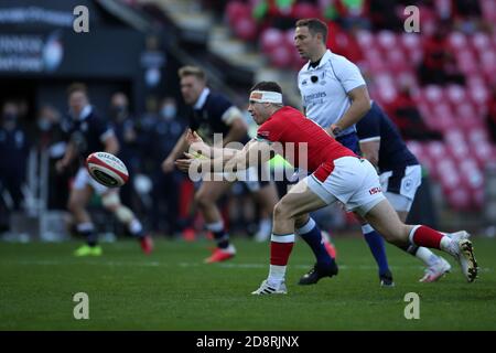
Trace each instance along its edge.
{"label": "referee in white shirt and navy socks behind the red-shirted player", "polygon": [[[298,74],[304,115],[359,154],[355,124],[370,109],[370,97],[358,67],[346,57],[332,53],[326,42],[327,25],[323,21],[303,19],[296,22],[294,45],[300,56],[309,60]],[[365,240],[379,267],[380,285],[393,286],[382,237],[365,221],[360,220],[360,223]],[[308,236],[300,232],[296,229],[306,240]],[[316,239],[316,235],[314,237]],[[319,246],[315,242],[312,244],[312,249]],[[300,284],[312,285],[321,277],[319,272],[325,276],[326,271],[324,268],[313,268],[302,277]]]}

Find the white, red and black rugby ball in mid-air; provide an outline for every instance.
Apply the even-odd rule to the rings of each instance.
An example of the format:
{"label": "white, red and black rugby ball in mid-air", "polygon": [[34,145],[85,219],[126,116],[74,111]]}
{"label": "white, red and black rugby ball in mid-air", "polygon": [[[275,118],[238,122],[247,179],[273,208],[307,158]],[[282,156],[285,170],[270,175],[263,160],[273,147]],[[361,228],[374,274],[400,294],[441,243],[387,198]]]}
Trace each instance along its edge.
{"label": "white, red and black rugby ball in mid-air", "polygon": [[86,159],[86,169],[100,184],[119,188],[129,179],[128,169],[120,159],[107,152],[94,152]]}

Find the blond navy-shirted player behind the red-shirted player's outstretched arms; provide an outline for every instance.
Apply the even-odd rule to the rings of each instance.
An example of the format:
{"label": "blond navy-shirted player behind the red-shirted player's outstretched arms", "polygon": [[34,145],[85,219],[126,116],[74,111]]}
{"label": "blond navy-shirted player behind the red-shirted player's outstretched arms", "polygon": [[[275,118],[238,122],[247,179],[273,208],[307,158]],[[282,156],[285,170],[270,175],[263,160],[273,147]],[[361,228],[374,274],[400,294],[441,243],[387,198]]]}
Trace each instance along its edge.
{"label": "blond navy-shirted player behind the red-shirted player's outstretched arms", "polygon": [[[214,133],[222,133],[224,147],[229,142],[246,143],[249,138],[242,113],[234,106],[224,95],[211,92],[207,87],[205,72],[196,66],[184,66],[180,68],[181,93],[186,105],[192,107],[190,115],[190,128],[197,131],[200,136],[213,142]],[[162,168],[165,173],[174,170],[174,161],[187,150],[185,141],[187,130],[177,140],[174,149],[163,161]],[[263,165],[262,165],[263,167]],[[261,169],[260,169],[261,170]],[[258,203],[271,214],[278,201],[277,190],[273,183],[254,175],[255,179],[246,182],[248,189],[256,195]],[[206,263],[227,260],[235,256],[236,249],[229,243],[229,235],[217,206],[217,201],[228,191],[230,182],[203,181],[202,186],[195,194],[195,202],[206,223],[206,228],[213,233],[217,248]],[[268,220],[262,220],[267,224]],[[270,221],[269,221],[270,222]],[[267,229],[270,232],[270,227]]]}

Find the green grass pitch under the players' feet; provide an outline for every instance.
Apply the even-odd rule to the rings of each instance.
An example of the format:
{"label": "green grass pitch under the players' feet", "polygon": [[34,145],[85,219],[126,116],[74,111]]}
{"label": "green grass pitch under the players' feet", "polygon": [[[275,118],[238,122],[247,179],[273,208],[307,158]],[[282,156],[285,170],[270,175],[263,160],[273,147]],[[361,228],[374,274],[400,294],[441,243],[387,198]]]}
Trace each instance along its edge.
{"label": "green grass pitch under the players' feet", "polygon": [[[421,263],[388,245],[395,288],[380,288],[366,243],[337,237],[339,275],[298,286],[313,256],[298,240],[288,295],[255,297],[268,274],[269,247],[234,238],[235,259],[204,265],[212,243],[155,240],[151,256],[131,239],[104,244],[104,256],[75,258],[80,243],[0,243],[0,330],[495,330],[496,240],[474,238],[474,284],[453,270],[420,284]],[[75,320],[73,296],[89,297],[89,319]],[[420,296],[420,319],[403,315],[405,295]]]}

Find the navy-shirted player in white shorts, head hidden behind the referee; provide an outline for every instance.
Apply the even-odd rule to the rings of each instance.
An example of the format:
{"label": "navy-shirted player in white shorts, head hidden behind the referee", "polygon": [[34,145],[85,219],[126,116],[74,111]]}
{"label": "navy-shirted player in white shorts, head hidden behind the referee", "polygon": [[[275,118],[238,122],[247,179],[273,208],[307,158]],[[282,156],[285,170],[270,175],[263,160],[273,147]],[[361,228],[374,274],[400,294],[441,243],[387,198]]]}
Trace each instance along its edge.
{"label": "navy-shirted player in white shorts, head hidden behind the referee", "polygon": [[[363,157],[378,170],[382,193],[405,223],[421,184],[422,167],[377,103],[373,103],[356,129]],[[435,281],[451,269],[444,258],[425,247],[409,245],[402,249],[425,264],[425,274],[420,279],[422,282]]]}

